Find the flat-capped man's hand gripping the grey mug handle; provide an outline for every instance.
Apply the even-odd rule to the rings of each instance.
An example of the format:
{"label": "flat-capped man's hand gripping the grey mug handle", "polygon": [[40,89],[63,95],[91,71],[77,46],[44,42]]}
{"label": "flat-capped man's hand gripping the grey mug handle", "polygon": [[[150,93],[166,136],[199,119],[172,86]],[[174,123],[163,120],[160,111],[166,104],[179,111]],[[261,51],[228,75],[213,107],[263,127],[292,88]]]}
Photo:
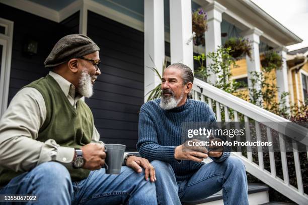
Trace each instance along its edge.
{"label": "flat-capped man's hand gripping the grey mug handle", "polygon": [[96,144],[90,143],[81,148],[83,151],[85,164],[83,166],[84,169],[95,170],[100,169],[105,164],[105,147]]}

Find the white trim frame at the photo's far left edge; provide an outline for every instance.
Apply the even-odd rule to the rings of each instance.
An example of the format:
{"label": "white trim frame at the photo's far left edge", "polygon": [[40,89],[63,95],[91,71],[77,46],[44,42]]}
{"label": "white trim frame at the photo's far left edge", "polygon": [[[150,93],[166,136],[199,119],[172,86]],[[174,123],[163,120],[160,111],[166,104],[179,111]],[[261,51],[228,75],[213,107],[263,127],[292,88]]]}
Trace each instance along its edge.
{"label": "white trim frame at the photo's far left edge", "polygon": [[1,76],[0,76],[0,117],[8,107],[12,45],[13,45],[13,27],[14,22],[0,18],[0,24],[6,28],[5,34],[0,34],[0,44],[3,45]]}

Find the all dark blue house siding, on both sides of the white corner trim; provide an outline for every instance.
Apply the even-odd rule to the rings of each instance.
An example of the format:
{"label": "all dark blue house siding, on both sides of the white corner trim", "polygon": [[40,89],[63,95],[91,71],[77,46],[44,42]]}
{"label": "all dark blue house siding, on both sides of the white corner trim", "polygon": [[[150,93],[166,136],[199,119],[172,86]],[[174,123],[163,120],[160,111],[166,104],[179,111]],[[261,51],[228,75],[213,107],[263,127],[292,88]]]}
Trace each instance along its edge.
{"label": "all dark blue house siding, on both sides of the white corner trim", "polygon": [[[10,103],[21,87],[48,73],[44,61],[54,44],[64,35],[79,33],[79,13],[58,24],[0,4],[0,17],[14,22]],[[102,75],[95,94],[86,99],[101,140],[135,150],[143,104],[143,33],[89,12],[88,35],[101,48]],[[38,42],[37,55],[23,53],[27,39]]]}

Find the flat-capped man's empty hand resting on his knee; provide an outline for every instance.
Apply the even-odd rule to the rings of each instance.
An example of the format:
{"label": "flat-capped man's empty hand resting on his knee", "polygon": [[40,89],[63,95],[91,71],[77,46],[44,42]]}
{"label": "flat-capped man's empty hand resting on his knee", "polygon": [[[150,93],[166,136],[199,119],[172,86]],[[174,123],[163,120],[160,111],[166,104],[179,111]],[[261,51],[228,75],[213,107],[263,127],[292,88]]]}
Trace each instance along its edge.
{"label": "flat-capped man's empty hand resting on his knee", "polygon": [[[145,180],[150,177],[151,182],[156,181],[155,176],[155,169],[154,167],[149,163],[147,159],[136,157],[136,156],[129,156],[126,160],[126,166],[132,168],[138,173],[142,172],[142,168],[144,168],[144,178]],[[142,167],[142,168],[141,168]]]}

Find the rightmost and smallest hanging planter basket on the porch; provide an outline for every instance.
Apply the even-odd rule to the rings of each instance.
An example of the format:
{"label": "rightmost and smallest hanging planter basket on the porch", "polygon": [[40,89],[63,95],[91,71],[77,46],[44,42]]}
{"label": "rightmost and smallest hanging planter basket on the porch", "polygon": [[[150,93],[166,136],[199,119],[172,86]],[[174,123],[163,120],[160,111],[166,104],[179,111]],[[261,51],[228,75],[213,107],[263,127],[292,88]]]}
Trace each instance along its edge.
{"label": "rightmost and smallest hanging planter basket on the porch", "polygon": [[280,69],[282,66],[282,57],[276,51],[267,51],[261,55],[261,65],[265,72],[273,69]]}

